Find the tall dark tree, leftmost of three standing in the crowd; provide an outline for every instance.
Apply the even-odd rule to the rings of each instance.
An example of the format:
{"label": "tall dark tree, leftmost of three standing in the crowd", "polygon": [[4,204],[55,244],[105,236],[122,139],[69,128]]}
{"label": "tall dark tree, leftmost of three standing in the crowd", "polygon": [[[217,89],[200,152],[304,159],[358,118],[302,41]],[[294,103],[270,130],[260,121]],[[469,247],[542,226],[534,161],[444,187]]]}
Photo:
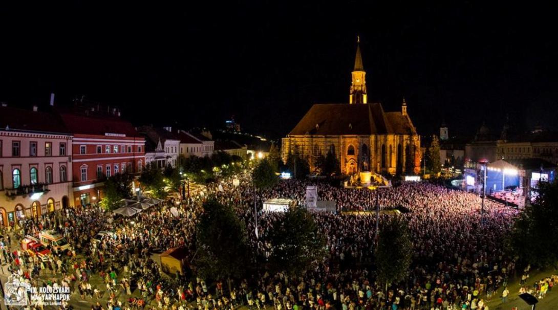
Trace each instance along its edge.
{"label": "tall dark tree, leftmost of three standing in the crowd", "polygon": [[213,198],[205,202],[196,226],[195,265],[202,277],[230,281],[243,275],[247,263],[247,234],[232,207]]}

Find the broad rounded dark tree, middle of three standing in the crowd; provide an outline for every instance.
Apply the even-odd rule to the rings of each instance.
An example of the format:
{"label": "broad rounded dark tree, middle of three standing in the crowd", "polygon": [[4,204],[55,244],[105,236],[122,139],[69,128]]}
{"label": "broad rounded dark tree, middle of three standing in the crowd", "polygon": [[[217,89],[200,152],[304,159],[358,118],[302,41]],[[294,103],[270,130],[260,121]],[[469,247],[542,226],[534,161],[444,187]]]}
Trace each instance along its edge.
{"label": "broad rounded dark tree, middle of three standing in the crowd", "polygon": [[272,245],[271,268],[302,275],[325,257],[325,239],[314,217],[300,206],[291,207],[276,218],[267,236]]}

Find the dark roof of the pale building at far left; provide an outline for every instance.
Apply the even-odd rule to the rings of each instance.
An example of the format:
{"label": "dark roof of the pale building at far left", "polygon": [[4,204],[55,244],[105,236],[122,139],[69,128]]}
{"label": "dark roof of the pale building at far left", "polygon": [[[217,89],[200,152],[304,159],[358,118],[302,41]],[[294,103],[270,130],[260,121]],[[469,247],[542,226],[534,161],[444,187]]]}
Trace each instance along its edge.
{"label": "dark roof of the pale building at far left", "polygon": [[50,112],[0,107],[0,128],[33,132],[69,133],[60,117]]}

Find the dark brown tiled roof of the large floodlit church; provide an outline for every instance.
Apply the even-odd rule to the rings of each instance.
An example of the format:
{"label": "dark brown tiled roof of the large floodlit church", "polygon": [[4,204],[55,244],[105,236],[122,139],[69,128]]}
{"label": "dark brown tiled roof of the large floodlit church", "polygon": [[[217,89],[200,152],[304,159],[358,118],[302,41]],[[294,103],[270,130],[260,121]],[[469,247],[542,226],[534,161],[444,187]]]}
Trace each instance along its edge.
{"label": "dark brown tiled roof of the large floodlit church", "polygon": [[315,104],[290,135],[413,134],[415,129],[401,112],[385,113],[382,105]]}

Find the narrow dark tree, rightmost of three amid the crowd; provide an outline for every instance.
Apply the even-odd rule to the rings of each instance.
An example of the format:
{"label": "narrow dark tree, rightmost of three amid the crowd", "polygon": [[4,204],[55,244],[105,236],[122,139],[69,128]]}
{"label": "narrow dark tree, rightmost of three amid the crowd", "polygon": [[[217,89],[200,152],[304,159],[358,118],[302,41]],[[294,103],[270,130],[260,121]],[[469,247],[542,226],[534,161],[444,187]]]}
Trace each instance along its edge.
{"label": "narrow dark tree, rightmost of three amid the crowd", "polygon": [[381,283],[405,279],[411,265],[412,243],[408,223],[402,216],[390,216],[379,231],[376,246],[376,268]]}

